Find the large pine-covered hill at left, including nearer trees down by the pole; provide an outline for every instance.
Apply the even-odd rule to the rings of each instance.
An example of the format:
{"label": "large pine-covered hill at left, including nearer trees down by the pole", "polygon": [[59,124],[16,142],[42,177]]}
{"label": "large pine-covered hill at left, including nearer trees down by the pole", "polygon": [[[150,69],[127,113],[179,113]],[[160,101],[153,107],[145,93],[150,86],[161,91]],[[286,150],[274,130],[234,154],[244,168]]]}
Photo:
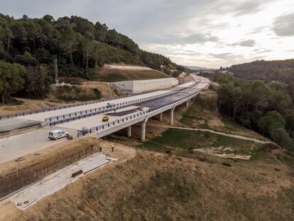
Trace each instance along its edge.
{"label": "large pine-covered hill at left, including nearer trees down by the pole", "polygon": [[60,76],[89,77],[104,63],[183,70],[163,55],[141,50],[127,36],[78,16],[14,19],[0,14],[0,103],[11,95],[43,97],[53,82],[53,59]]}

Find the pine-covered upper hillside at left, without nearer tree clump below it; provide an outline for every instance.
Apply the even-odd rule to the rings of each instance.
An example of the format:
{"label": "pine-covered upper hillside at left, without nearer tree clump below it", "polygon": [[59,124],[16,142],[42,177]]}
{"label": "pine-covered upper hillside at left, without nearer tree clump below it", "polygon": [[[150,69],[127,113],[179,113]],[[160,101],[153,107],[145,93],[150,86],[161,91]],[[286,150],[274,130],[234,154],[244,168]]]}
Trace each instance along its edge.
{"label": "pine-covered upper hillside at left, without nearer tree clump below it", "polygon": [[182,66],[169,58],[141,50],[128,36],[106,24],[79,16],[15,19],[0,14],[0,59],[9,63],[53,65],[60,75],[86,77],[88,69],[105,63],[125,63],[160,70],[160,65]]}

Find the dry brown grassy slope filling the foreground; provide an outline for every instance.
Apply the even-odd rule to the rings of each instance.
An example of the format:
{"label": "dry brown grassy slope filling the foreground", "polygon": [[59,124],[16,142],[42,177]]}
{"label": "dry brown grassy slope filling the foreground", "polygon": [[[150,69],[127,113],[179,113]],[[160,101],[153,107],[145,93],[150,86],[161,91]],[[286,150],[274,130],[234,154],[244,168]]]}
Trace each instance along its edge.
{"label": "dry brown grassy slope filling the foreground", "polygon": [[13,220],[293,220],[293,169],[278,161],[139,152]]}

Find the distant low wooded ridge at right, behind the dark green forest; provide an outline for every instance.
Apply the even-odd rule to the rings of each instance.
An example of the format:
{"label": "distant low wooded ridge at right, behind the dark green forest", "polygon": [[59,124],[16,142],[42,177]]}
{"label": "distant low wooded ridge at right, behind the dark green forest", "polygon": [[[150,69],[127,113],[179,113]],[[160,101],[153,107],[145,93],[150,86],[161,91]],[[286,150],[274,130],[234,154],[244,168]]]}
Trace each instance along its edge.
{"label": "distant low wooded ridge at right, behind the dark green forest", "polygon": [[256,60],[226,68],[236,77],[248,80],[290,82],[294,80],[294,59]]}

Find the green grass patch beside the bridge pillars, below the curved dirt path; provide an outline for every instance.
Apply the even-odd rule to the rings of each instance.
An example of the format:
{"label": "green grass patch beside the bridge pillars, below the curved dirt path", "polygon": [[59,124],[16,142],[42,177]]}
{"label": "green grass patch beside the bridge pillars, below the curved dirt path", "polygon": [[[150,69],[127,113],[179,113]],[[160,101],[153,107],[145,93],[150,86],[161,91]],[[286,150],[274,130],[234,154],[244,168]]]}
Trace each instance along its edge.
{"label": "green grass patch beside the bridge pillars, below the curved dirt path", "polygon": [[[194,154],[193,149],[222,147],[224,151],[219,149],[219,153],[253,154],[257,158],[261,144],[203,131],[168,129],[162,136],[156,136],[137,147],[146,151],[185,153],[187,156]],[[230,149],[226,150],[226,147]]]}

